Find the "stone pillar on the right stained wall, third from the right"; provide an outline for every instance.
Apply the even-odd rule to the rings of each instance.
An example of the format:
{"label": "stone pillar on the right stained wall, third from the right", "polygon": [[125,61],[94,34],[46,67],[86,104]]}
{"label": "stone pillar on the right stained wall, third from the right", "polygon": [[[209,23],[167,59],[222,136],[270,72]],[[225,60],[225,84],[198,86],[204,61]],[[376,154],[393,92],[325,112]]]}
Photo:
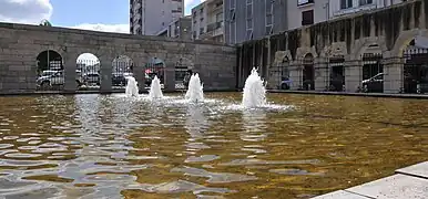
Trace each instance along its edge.
{"label": "stone pillar on the right stained wall, third from the right", "polygon": [[328,59],[317,57],[314,60],[315,91],[324,91],[329,82]]}

